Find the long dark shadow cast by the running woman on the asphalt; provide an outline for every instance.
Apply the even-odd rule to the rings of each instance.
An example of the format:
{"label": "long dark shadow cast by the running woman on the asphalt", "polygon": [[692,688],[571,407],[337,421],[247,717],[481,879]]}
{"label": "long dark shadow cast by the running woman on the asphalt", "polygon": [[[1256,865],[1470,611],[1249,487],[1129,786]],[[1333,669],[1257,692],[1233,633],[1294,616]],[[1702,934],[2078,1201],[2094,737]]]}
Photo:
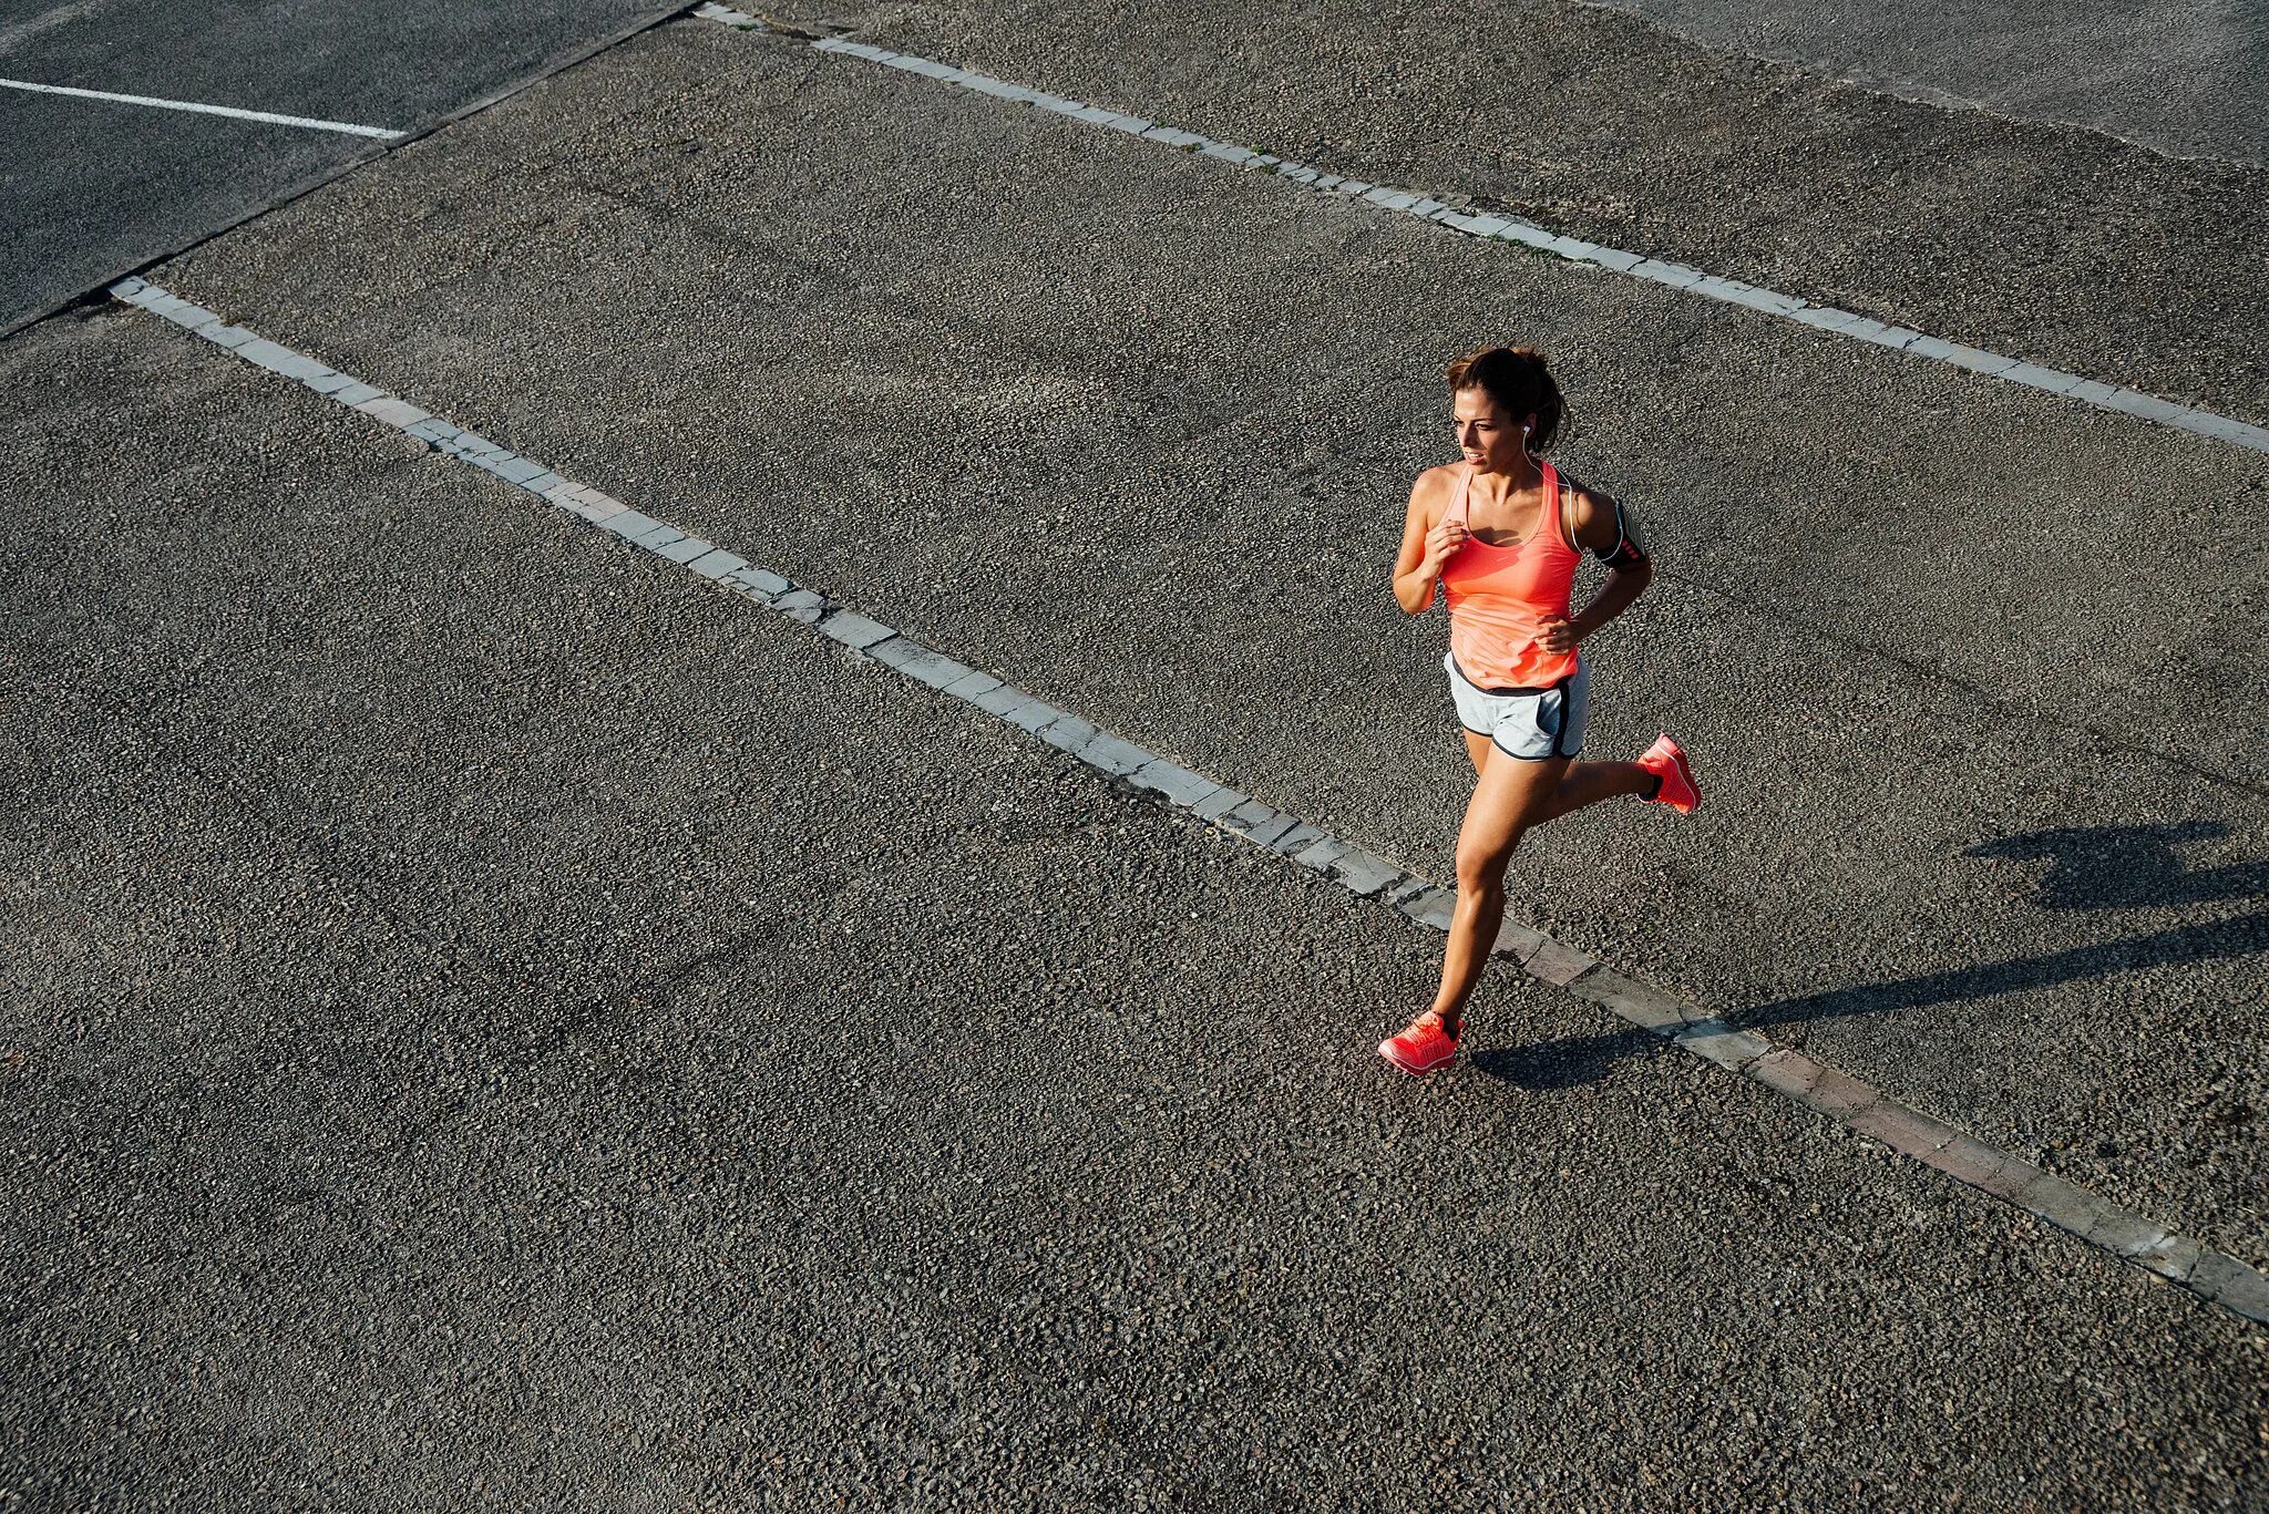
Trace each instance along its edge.
{"label": "long dark shadow cast by the running woman on the asphalt", "polygon": [[[2190,872],[2174,851],[2185,842],[2226,835],[2219,822],[2176,826],[2087,826],[2033,831],[1972,847],[1965,856],[1994,860],[2047,858],[2035,903],[2044,910],[2151,908],[2217,899],[2269,901],[2269,863],[2235,863]],[[1847,1015],[1890,1015],[1933,1003],[1992,999],[2019,990],[2108,978],[2144,967],[2178,967],[2217,958],[2269,953],[2269,908],[2151,935],[2085,942],[2067,951],[1865,983],[1827,994],[1804,994],[1724,1015],[1747,1031],[1811,1024]],[[1659,1049],[1645,1031],[1575,1035],[1534,1046],[1479,1051],[1473,1067],[1522,1087],[1572,1087],[1602,1076],[1620,1058]]]}

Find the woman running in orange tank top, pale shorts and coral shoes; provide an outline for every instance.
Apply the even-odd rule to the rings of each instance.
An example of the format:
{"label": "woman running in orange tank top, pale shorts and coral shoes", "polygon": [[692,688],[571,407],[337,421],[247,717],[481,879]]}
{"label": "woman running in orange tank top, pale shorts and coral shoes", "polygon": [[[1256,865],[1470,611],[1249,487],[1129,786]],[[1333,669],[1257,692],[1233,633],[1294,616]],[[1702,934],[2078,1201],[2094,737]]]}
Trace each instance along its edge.
{"label": "woman running in orange tank top, pale shorts and coral shoes", "polygon": [[[1461,463],[1411,486],[1395,558],[1395,602],[1411,615],[1450,602],[1450,697],[1466,729],[1475,785],[1457,833],[1457,910],[1432,1008],[1380,1055],[1409,1074],[1457,1055],[1466,1001],[1504,919],[1504,867],[1547,819],[1638,794],[1681,815],[1702,801],[1693,769],[1663,735],[1636,763],[1579,763],[1591,670],[1577,647],[1654,581],[1629,506],[1563,477],[1543,454],[1561,424],[1561,393],[1529,347],[1484,347],[1450,363],[1450,415]],[[1588,547],[1606,583],[1568,613]]]}

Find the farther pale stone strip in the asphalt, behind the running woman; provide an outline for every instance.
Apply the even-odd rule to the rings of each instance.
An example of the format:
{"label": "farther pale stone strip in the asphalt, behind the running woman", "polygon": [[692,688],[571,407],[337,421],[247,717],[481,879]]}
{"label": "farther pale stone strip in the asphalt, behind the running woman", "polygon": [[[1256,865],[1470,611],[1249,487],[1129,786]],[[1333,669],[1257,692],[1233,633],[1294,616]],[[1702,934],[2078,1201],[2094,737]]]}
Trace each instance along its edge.
{"label": "farther pale stone strip in the asphalt, behind the running woman", "polygon": [[[703,20],[717,20],[737,30],[760,30],[776,32],[781,36],[803,39],[799,32],[769,27],[747,11],[735,11],[724,5],[701,5],[692,11]],[[1595,268],[1606,268],[1613,272],[1629,275],[1634,279],[1647,279],[1650,284],[1665,284],[1670,288],[1681,288],[1693,295],[1704,295],[1709,300],[1722,300],[1724,304],[1740,304],[1765,316],[1779,316],[1783,320],[1795,320],[1804,327],[1815,327],[1820,331],[1833,331],[1838,336],[1852,336],[1863,343],[1874,343],[1879,347],[1892,347],[1910,356],[1931,359],[1935,363],[1951,363],[1954,368],[1967,368],[1992,379],[2006,379],[2010,384],[2024,384],[2028,388],[2040,388],[2051,395],[2069,395],[2097,409],[2119,411],[2122,415],[2135,415],[2162,427],[2174,427],[2176,431],[2192,431],[2217,443],[2228,443],[2233,447],[2249,447],[2253,452],[2269,452],[2269,429],[2249,424],[2244,420],[2233,420],[2230,415],[2217,415],[2215,411],[2201,411],[2187,404],[2174,404],[2171,399],[2160,399],[2156,395],[2144,395],[2133,388],[2119,388],[2115,384],[2101,384],[2097,379],[2085,379],[2076,372],[2063,372],[2060,368],[2042,368],[2040,363],[2026,363],[2022,359],[2001,356],[1999,352],[1985,352],[1983,347],[1965,347],[1963,343],[1940,340],[1913,327],[1895,327],[1881,320],[1870,320],[1856,311],[1836,309],[1831,304],[1811,304],[1808,300],[1797,300],[1795,295],[1783,295],[1779,291],[1761,288],[1756,284],[1743,284],[1740,279],[1720,279],[1718,275],[1702,272],[1699,268],[1688,268],[1686,263],[1663,263],[1638,252],[1625,252],[1620,247],[1602,247],[1600,243],[1577,241],[1575,236],[1559,236],[1545,227],[1518,220],[1513,216],[1495,213],[1473,213],[1441,200],[1432,200],[1414,188],[1395,188],[1391,184],[1368,184],[1364,179],[1343,179],[1339,175],[1325,173],[1321,168],[1309,168],[1307,163],[1293,163],[1291,159],[1280,159],[1271,152],[1252,152],[1250,148],[1239,148],[1234,143],[1214,141],[1212,136],[1200,136],[1196,132],[1182,132],[1180,127],[1159,125],[1144,120],[1141,116],[1128,116],[1125,111],[1114,111],[1103,104],[1085,104],[1080,100],[1066,100],[1062,95],[1051,95],[1037,89],[1026,89],[1023,84],[1007,84],[1005,79],[994,79],[982,73],[969,73],[967,68],[953,68],[926,57],[914,57],[910,52],[887,52],[885,48],[871,48],[867,43],[842,41],[837,36],[824,36],[810,43],[819,52],[840,52],[844,57],[860,57],[869,64],[883,64],[887,68],[903,68],[905,73],[919,73],[923,77],[937,79],[942,84],[958,84],[960,89],[976,91],[980,95],[992,95],[996,100],[1007,100],[1012,104],[1030,104],[1041,111],[1053,111],[1057,116],[1069,116],[1094,127],[1110,127],[1114,132],[1125,132],[1130,136],[1141,136],[1146,141],[1164,143],[1169,148],[1180,148],[1182,152],[1198,152],[1237,168],[1275,173],[1293,184],[1307,184],[1309,188],[1323,191],[1327,195],[1343,195],[1350,200],[1364,200],[1386,211],[1400,211],[1405,216],[1416,216],[1420,220],[1432,220],[1434,225],[1450,227],[1466,236],[1479,236],[1488,241],[1509,241],[1536,252],[1547,252],[1563,256],[1572,263],[1591,263]]]}

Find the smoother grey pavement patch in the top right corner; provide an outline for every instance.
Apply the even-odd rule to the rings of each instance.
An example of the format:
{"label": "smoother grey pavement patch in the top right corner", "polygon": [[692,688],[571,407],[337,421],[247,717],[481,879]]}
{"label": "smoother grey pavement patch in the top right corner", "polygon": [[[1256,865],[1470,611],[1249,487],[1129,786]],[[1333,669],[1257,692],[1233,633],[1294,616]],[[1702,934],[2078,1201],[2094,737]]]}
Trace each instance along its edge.
{"label": "smoother grey pavement patch in the top right corner", "polygon": [[2269,9],[2258,0],[1899,0],[1833,11],[1795,0],[1597,2],[1870,89],[2269,166]]}

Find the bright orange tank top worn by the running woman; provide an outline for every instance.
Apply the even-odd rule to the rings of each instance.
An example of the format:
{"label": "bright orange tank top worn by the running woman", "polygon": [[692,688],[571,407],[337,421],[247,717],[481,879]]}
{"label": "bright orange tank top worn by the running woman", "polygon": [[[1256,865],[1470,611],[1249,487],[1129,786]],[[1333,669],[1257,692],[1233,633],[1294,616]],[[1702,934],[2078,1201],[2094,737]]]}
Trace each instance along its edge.
{"label": "bright orange tank top worn by the running woman", "polygon": [[[1575,672],[1575,651],[1545,651],[1536,633],[1547,615],[1568,617],[1579,552],[1561,513],[1559,470],[1545,463],[1545,508],[1527,540],[1491,547],[1468,536],[1441,565],[1450,599],[1450,656],[1479,688],[1552,688]],[[1466,520],[1473,468],[1457,481],[1443,520]]]}

